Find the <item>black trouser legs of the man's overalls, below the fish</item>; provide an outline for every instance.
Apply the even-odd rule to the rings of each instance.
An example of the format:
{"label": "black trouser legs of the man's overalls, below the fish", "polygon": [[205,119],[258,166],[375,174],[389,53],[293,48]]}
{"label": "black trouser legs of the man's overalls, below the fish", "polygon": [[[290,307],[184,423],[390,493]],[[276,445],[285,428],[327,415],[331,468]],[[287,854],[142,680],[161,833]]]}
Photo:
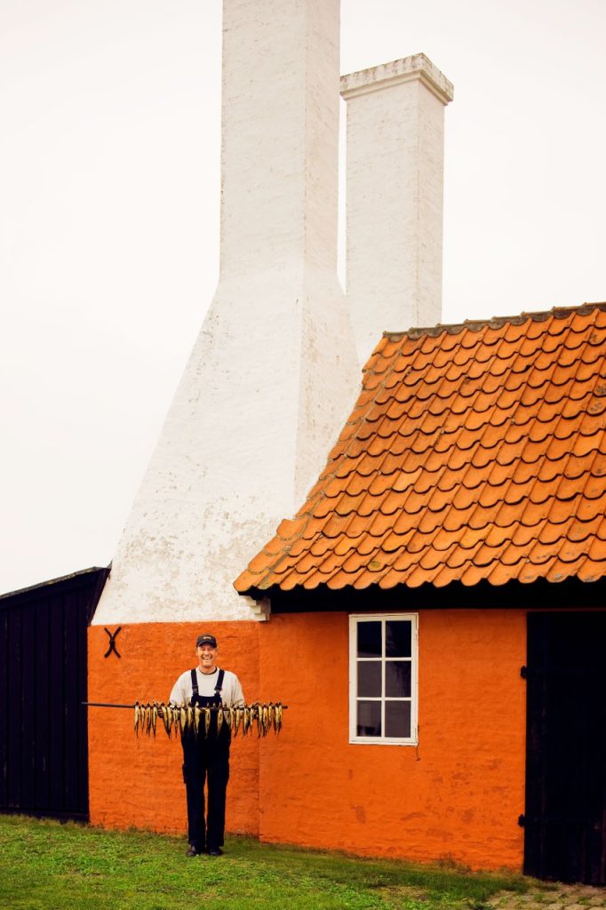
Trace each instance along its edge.
{"label": "black trouser legs of the man's overalls, below the fish", "polygon": [[230,743],[231,734],[227,727],[218,736],[210,733],[208,737],[181,737],[183,780],[187,794],[187,840],[197,850],[214,850],[223,846]]}

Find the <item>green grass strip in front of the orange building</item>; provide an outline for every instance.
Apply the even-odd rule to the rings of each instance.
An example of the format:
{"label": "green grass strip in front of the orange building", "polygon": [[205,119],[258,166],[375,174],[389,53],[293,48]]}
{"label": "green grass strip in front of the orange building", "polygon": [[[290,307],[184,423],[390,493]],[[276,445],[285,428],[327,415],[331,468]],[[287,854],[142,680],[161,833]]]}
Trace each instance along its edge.
{"label": "green grass strip in front of the orange building", "polygon": [[218,859],[184,838],[0,815],[2,910],[481,910],[521,876],[471,874],[230,837]]}

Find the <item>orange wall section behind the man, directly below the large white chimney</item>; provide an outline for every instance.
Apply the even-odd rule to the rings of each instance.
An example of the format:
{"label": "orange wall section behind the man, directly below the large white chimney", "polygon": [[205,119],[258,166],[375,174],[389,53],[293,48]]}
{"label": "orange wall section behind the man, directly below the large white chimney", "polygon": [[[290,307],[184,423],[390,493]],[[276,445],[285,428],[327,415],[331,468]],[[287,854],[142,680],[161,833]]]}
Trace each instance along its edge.
{"label": "orange wall section behind the man, directly below the large white chimney", "polygon": [[[116,627],[112,626],[111,631]],[[116,637],[120,659],[104,657],[102,626],[88,630],[88,701],[166,702],[177,676],[196,665],[200,632],[214,632],[220,662],[242,682],[247,701],[258,697],[257,622],[141,623],[125,625]],[[133,712],[88,709],[89,808],[93,824],[108,827],[187,831],[183,753],[164,730],[157,738],[133,732]],[[258,835],[258,741],[237,739],[230,761],[227,828]]]}

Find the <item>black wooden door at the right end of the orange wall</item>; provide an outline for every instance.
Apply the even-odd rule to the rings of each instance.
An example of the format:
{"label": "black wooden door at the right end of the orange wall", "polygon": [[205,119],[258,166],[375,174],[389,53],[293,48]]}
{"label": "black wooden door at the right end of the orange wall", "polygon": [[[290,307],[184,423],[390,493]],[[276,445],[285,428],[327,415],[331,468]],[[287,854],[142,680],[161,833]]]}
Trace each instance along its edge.
{"label": "black wooden door at the right end of the orange wall", "polygon": [[524,872],[606,884],[606,612],[530,613]]}

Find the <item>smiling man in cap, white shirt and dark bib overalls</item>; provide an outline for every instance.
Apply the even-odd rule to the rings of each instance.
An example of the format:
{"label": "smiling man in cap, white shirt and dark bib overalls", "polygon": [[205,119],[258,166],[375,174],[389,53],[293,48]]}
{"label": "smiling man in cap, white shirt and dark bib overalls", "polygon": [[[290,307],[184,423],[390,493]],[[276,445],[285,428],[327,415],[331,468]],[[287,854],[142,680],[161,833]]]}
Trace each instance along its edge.
{"label": "smiling man in cap, white shirt and dark bib overalls", "polygon": [[[181,673],[170,693],[175,704],[205,707],[244,704],[242,687],[235,673],[217,667],[217,639],[207,633],[196,642],[197,667]],[[183,780],[187,794],[187,856],[205,851],[210,856],[222,854],[225,833],[225,803],[229,779],[229,744],[231,731],[227,723],[217,733],[217,712],[211,713],[208,732],[200,723],[181,736],[183,746]],[[204,784],[207,781],[207,821],[205,824]]]}

